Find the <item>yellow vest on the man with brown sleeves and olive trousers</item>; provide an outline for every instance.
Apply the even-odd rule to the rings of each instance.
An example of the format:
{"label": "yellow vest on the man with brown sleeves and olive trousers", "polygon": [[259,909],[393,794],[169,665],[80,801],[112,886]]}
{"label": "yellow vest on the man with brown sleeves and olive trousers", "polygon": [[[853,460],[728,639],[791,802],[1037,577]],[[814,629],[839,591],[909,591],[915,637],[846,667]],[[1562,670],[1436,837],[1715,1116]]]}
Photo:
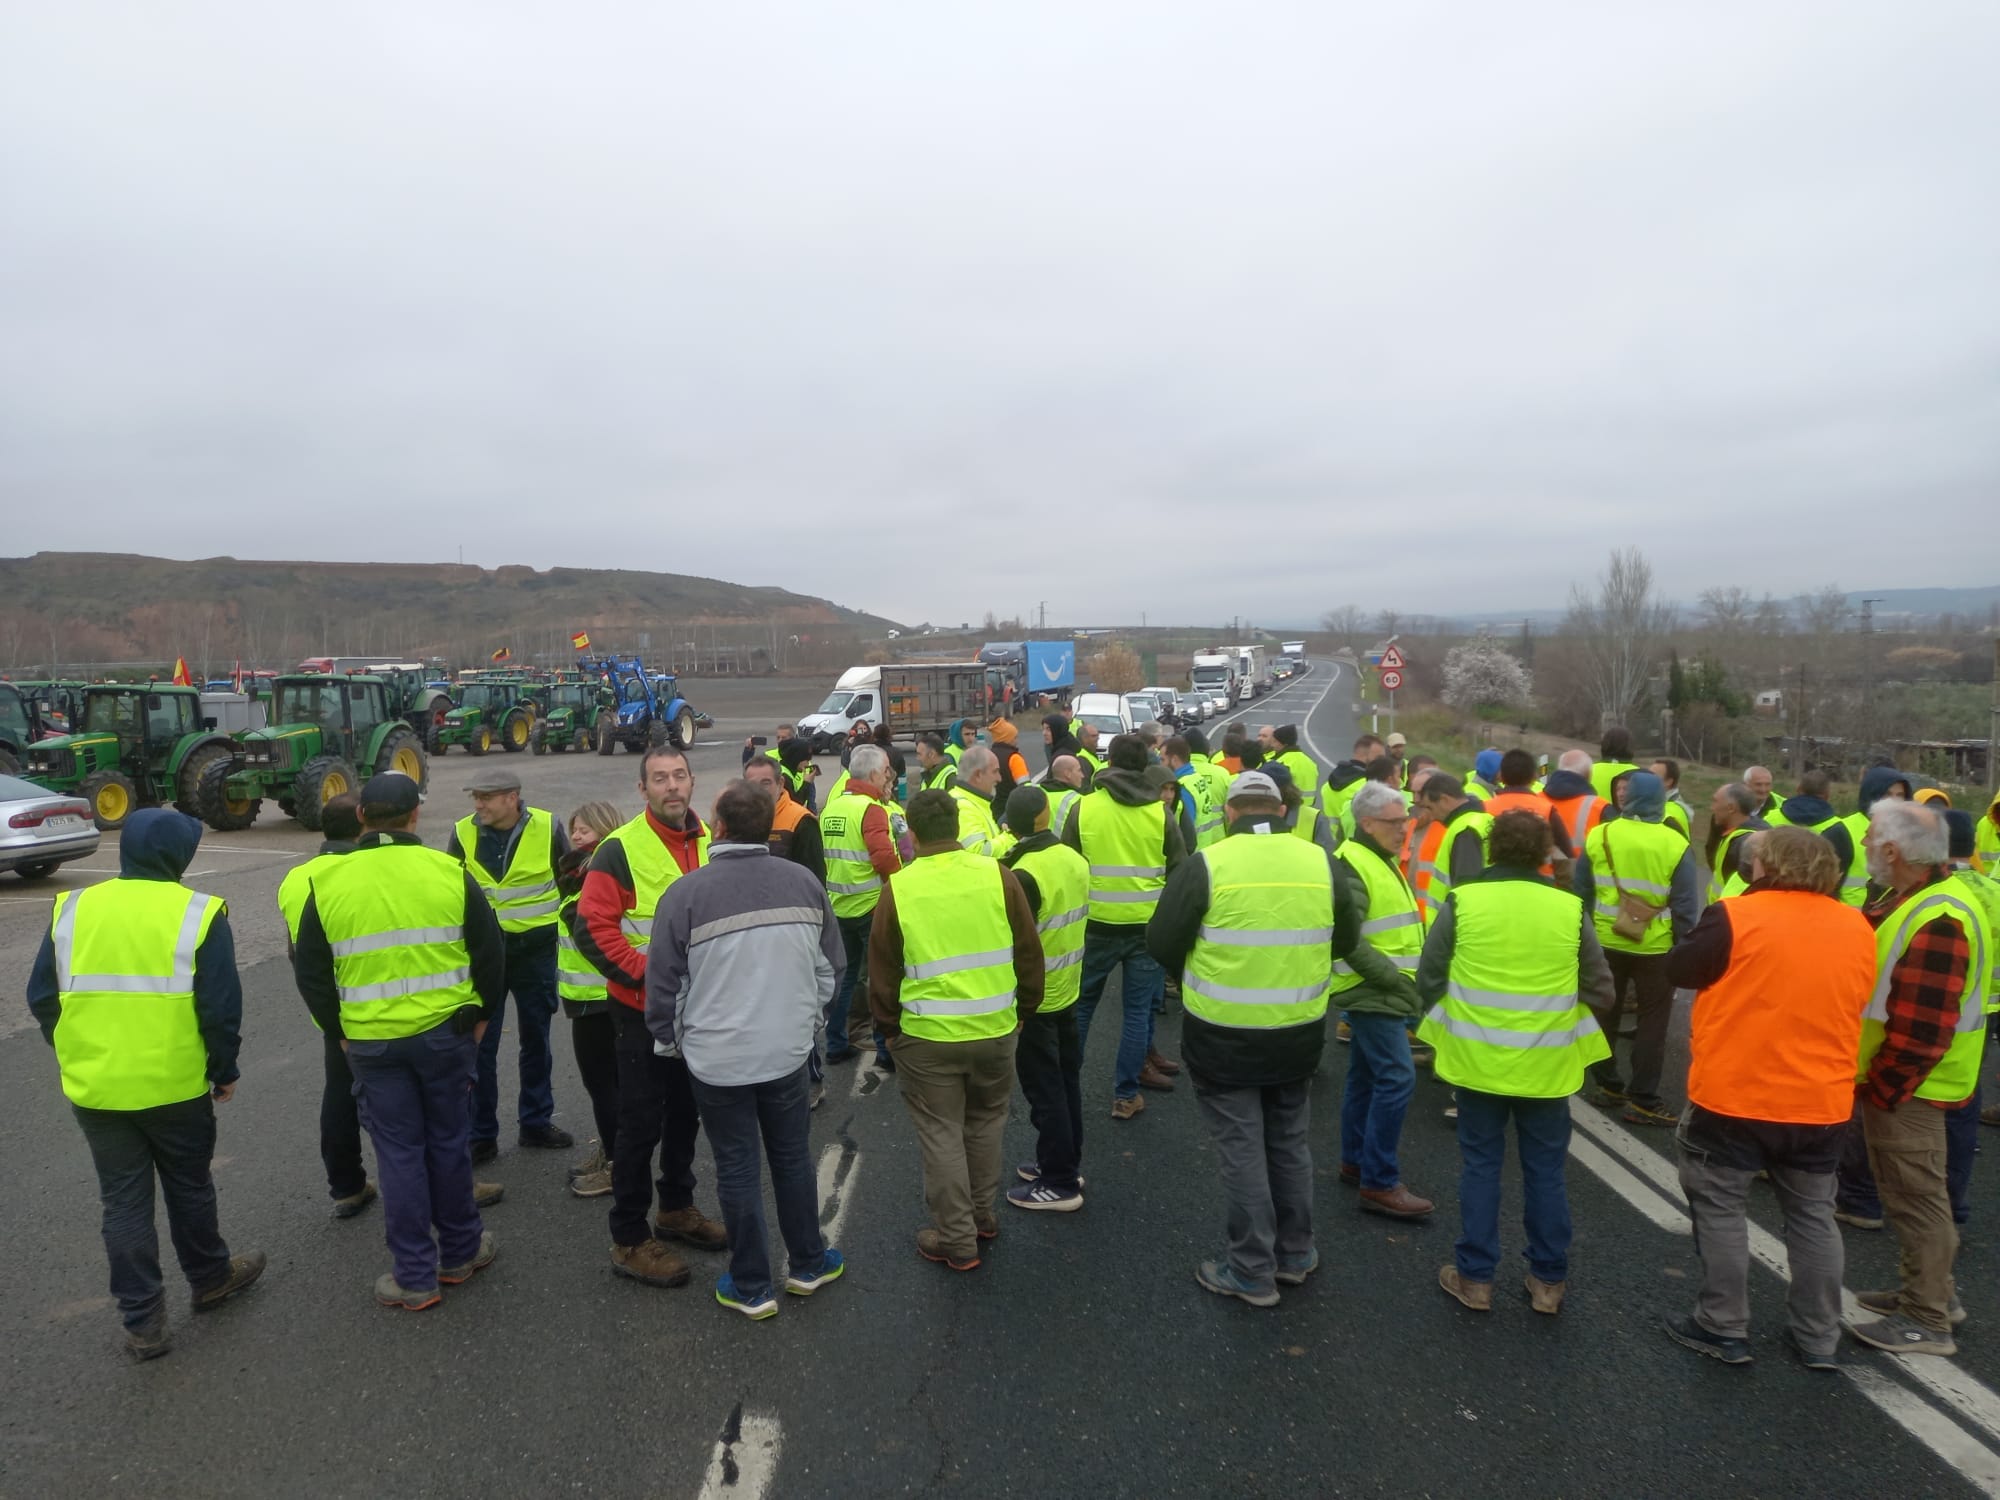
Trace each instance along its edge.
{"label": "yellow vest on the man with brown sleeves and olive trousers", "polygon": [[946,850],[894,876],[902,928],[902,1030],[930,1042],[978,1042],[1014,1030],[1014,928],[1000,866]]}

